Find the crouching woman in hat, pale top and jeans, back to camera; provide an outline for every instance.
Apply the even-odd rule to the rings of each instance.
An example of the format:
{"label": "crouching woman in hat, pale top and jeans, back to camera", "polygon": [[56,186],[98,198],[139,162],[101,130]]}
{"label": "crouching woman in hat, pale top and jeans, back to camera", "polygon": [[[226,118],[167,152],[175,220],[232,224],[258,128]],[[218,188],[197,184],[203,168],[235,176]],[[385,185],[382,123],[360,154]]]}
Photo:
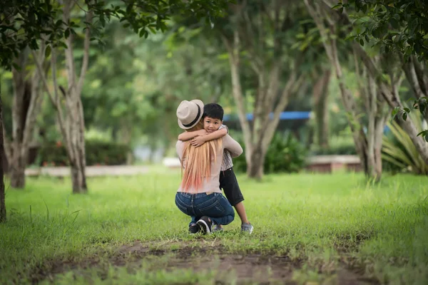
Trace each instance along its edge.
{"label": "crouching woman in hat, pale top and jeans, back to camera", "polygon": [[[201,100],[183,101],[177,108],[178,125],[186,131],[203,131],[203,103]],[[235,212],[220,190],[219,175],[223,150],[232,157],[243,153],[239,143],[229,135],[205,142],[200,147],[190,141],[178,140],[176,150],[182,165],[183,178],[175,195],[175,204],[192,217],[190,234],[210,234],[214,224],[230,224]]]}

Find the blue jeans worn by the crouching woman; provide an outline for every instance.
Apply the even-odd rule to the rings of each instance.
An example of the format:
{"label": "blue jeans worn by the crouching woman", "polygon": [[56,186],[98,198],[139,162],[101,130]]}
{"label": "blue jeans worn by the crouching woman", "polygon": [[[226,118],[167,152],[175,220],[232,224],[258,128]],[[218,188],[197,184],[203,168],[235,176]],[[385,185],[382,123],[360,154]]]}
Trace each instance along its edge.
{"label": "blue jeans worn by the crouching woman", "polygon": [[221,193],[188,194],[177,192],[175,204],[184,214],[192,217],[190,224],[198,222],[202,216],[207,216],[214,224],[230,224],[235,219],[235,211]]}

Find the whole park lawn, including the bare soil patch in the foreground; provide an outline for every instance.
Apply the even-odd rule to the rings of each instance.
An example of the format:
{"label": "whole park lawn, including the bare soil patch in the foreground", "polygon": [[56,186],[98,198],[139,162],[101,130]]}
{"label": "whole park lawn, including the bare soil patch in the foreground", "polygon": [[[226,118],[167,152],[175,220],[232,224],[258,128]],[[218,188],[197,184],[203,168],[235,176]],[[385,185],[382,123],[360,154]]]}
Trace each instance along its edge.
{"label": "whole park lawn, including the bare soil patch in the foreground", "polygon": [[88,195],[49,177],[7,189],[0,284],[428,284],[428,177],[242,175],[250,236],[238,215],[190,236],[179,181],[157,169],[89,179]]}

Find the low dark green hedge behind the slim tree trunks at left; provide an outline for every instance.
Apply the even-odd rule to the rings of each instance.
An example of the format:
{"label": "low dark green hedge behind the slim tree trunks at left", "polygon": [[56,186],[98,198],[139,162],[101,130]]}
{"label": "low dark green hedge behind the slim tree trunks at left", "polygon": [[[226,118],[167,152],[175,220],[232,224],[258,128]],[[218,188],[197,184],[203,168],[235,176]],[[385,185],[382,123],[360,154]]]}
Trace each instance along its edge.
{"label": "low dark green hedge behind the slim tree trunks at left", "polygon": [[[101,140],[86,140],[86,165],[124,165],[130,148],[127,145]],[[37,155],[41,166],[70,165],[66,147],[61,141],[47,142],[42,145]]]}

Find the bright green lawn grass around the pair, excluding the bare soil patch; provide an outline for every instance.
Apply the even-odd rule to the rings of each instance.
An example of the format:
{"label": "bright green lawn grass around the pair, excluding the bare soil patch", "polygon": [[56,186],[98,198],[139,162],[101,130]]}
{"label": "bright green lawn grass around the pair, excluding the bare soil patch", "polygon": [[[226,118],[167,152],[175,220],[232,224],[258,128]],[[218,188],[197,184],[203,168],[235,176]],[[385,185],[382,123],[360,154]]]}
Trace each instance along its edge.
{"label": "bright green lawn grass around the pair, excluding the bare soil patch", "polygon": [[[224,234],[204,239],[188,235],[188,217],[175,207],[179,180],[179,170],[159,168],[137,177],[90,179],[88,195],[71,195],[68,179],[49,177],[27,180],[25,190],[8,189],[8,222],[0,225],[0,284],[31,278],[36,266],[52,260],[79,260],[136,239],[195,247],[215,239],[230,252],[287,255],[303,264],[297,281],[314,279],[322,266],[327,270],[325,264],[345,260],[381,282],[428,283],[428,177],[398,175],[372,185],[353,173],[270,175],[263,183],[241,175],[253,235],[240,234],[236,215]],[[177,275],[108,272],[107,280],[120,275],[128,284]],[[213,272],[200,274],[213,278]],[[66,284],[72,280],[68,275],[58,281]],[[193,280],[183,276],[183,282]]]}

